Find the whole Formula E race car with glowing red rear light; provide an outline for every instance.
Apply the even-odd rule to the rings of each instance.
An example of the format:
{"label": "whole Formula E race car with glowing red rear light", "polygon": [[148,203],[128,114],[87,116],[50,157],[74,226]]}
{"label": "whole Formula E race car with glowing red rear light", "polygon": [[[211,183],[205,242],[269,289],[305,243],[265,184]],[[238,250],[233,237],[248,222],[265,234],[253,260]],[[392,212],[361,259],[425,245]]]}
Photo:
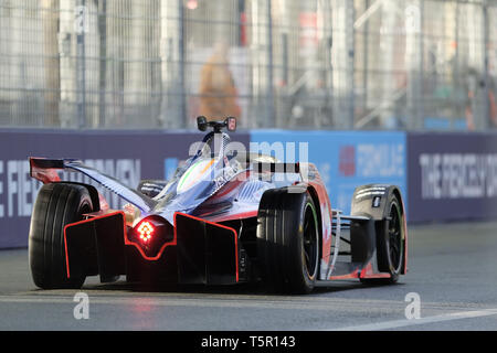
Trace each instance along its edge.
{"label": "whole Formula E race car with glowing red rear light", "polygon": [[[30,158],[31,176],[43,182],[29,235],[34,284],[80,288],[87,276],[124,275],[134,284],[263,281],[308,293],[339,279],[393,284],[406,272],[399,188],[357,188],[345,215],[331,208],[314,164],[231,148],[223,129],[234,131],[235,118],[199,117],[198,127],[212,131],[175,175],[137,189],[78,160]],[[60,170],[91,182],[62,181]],[[109,208],[98,185],[127,204]]]}

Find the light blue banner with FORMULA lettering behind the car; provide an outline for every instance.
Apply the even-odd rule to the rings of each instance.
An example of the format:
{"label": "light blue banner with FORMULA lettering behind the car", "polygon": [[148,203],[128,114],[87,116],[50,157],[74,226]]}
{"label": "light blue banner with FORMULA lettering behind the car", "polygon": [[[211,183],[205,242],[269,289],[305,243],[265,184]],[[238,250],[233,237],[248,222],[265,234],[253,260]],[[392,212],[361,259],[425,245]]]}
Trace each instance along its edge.
{"label": "light blue banner with FORMULA lettering behind the car", "polygon": [[350,212],[355,189],[369,183],[398,185],[406,202],[404,132],[262,130],[253,131],[251,141],[253,151],[316,164],[331,207],[345,213]]}

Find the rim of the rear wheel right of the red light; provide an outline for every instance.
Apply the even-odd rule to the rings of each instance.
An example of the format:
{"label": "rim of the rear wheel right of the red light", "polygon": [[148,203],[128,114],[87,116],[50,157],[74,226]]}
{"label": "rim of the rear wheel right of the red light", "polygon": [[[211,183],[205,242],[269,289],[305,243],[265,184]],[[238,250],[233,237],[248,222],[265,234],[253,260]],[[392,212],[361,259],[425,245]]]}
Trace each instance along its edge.
{"label": "rim of the rear wheel right of the red light", "polygon": [[310,203],[306,204],[304,217],[304,246],[303,255],[307,276],[313,279],[317,270],[318,257],[318,239],[317,239],[317,216],[314,206]]}

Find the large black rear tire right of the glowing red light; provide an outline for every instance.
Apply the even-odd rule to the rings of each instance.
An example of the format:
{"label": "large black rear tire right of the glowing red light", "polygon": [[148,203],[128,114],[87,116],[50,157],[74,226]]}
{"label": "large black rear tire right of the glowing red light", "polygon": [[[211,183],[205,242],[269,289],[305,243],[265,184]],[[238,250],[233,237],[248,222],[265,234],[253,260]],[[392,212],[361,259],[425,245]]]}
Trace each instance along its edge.
{"label": "large black rear tire right of the glowing red light", "polygon": [[308,191],[264,193],[257,216],[257,259],[268,289],[313,291],[319,267],[319,223]]}

